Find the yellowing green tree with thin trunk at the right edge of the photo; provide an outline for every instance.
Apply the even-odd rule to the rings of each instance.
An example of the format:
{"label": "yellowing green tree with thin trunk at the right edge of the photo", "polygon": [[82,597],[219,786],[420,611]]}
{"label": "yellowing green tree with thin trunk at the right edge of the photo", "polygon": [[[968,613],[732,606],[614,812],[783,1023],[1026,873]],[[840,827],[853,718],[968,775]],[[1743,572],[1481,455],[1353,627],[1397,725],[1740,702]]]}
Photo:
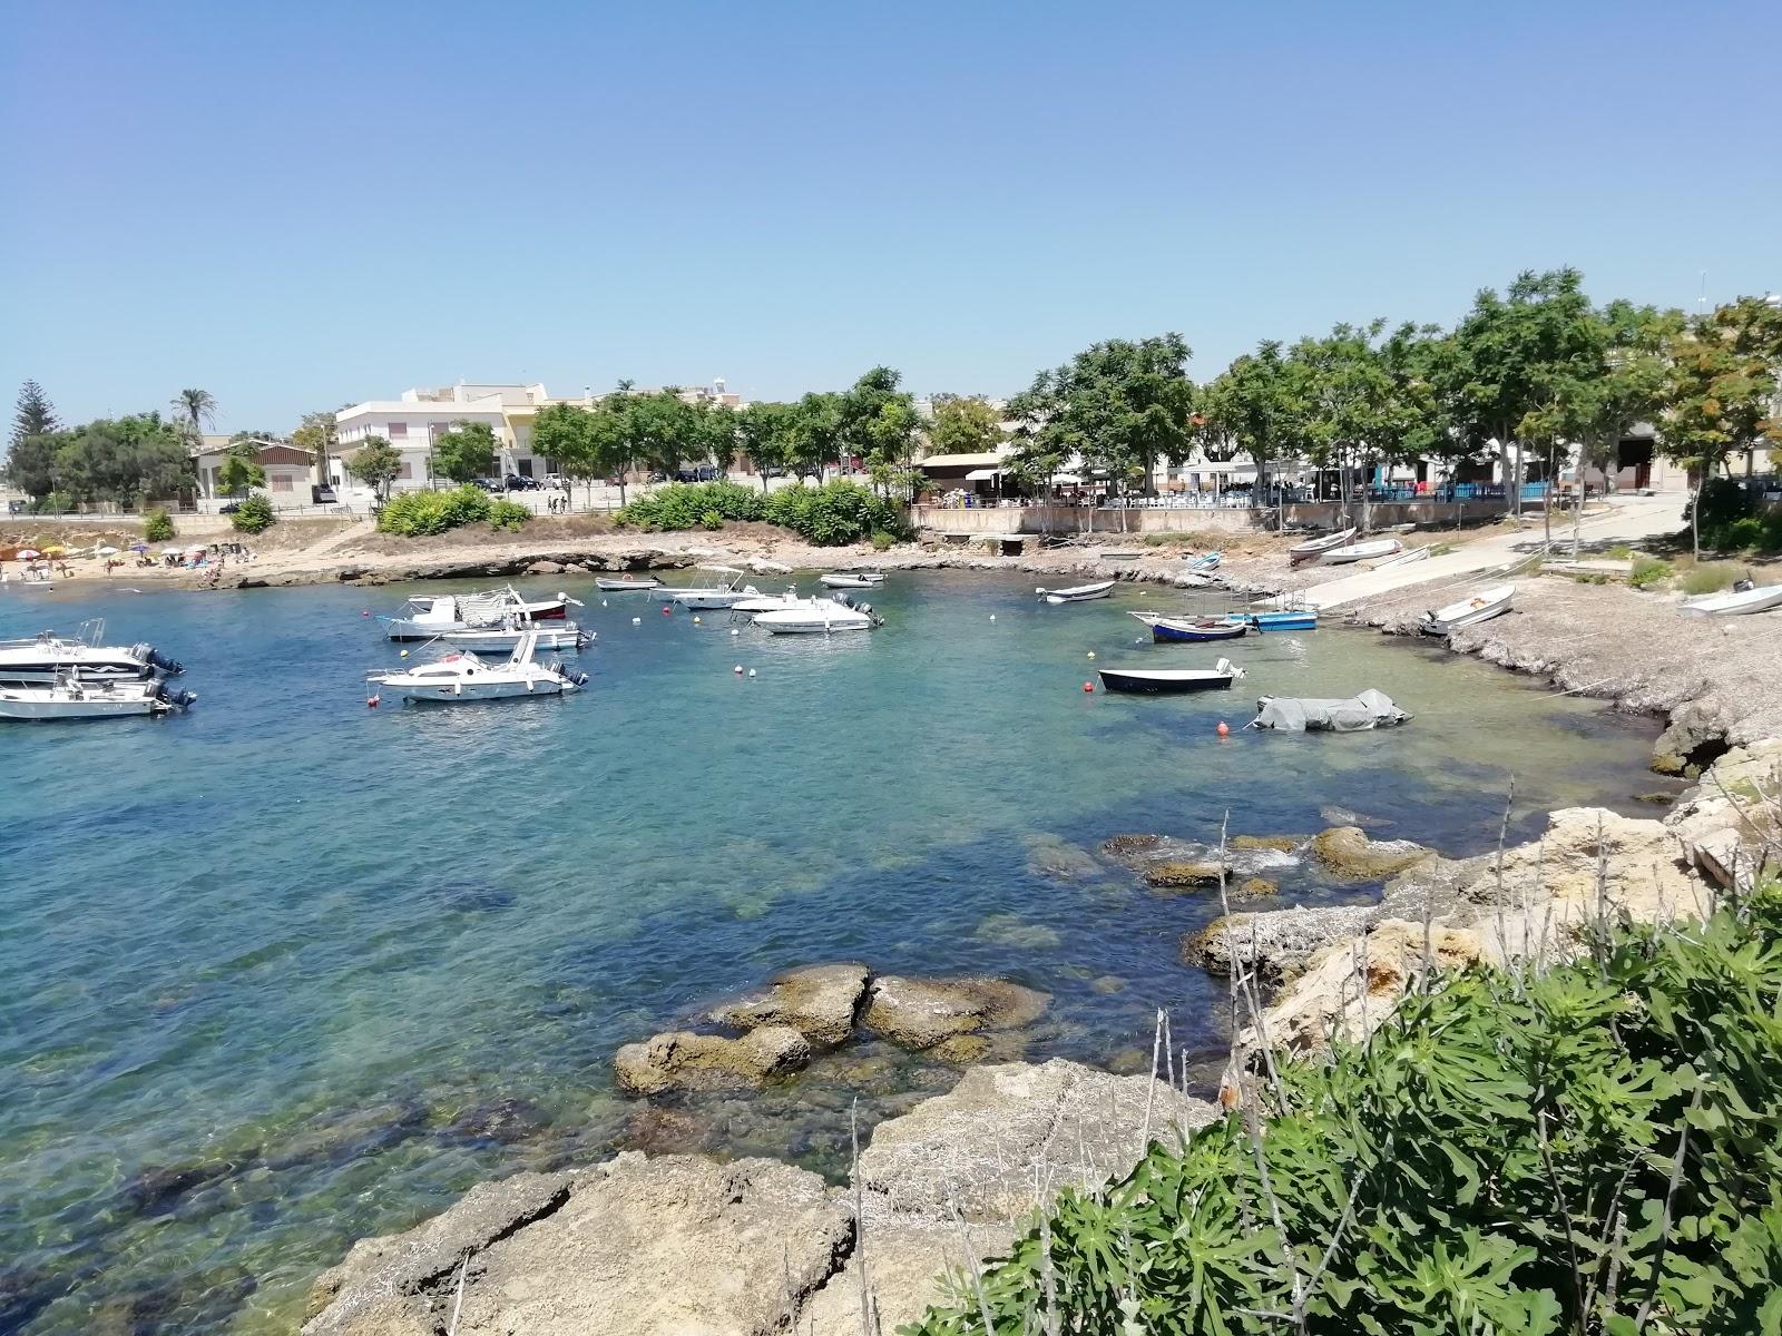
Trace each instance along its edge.
{"label": "yellowing green tree with thin trunk at the right edge of the photo", "polygon": [[[1777,383],[1782,367],[1782,306],[1739,297],[1688,322],[1670,340],[1670,376],[1659,413],[1664,454],[1695,474],[1689,533],[1702,554],[1702,488],[1727,460],[1782,438]],[[1750,465],[1746,463],[1746,470]]]}

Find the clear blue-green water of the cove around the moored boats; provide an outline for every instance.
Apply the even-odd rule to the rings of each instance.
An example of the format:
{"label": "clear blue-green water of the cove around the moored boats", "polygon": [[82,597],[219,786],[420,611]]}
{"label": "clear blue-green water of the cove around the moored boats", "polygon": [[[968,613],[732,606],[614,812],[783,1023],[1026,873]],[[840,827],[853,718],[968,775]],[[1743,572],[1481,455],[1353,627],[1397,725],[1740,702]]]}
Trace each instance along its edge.
{"label": "clear blue-green water of the cove around the moored boats", "polygon": [[[1222,985],[1178,944],[1217,908],[1144,891],[1098,853],[1119,832],[1340,805],[1465,853],[1511,771],[1518,834],[1654,787],[1652,725],[1472,661],[1342,629],[1140,645],[1121,613],[1185,595],[1042,607],[1032,582],[893,575],[886,629],[823,639],[551,577],[599,632],[590,689],[433,711],[364,704],[396,648],[362,613],[394,588],[7,595],[0,636],[109,616],[200,704],[0,729],[0,1332],[289,1329],[353,1238],[622,1144],[834,1172],[855,1092],[880,1117],[955,1072],[862,1044],[659,1117],[611,1088],[618,1044],[791,964],[1046,989],[1034,1058],[1148,1062],[1157,1006],[1210,1056]],[[1085,695],[1091,650],[1249,677]],[[1215,736],[1262,693],[1367,686],[1417,720]]]}

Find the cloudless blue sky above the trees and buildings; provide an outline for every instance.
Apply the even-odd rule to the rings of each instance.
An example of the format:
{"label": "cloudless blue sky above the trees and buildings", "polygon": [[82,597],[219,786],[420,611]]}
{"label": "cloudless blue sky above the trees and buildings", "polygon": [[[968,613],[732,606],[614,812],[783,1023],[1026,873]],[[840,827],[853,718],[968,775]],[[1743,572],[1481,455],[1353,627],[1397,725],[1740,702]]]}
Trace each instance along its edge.
{"label": "cloudless blue sky above the trees and buildings", "polygon": [[1007,394],[1524,267],[1782,289],[1778,50],[1773,0],[0,0],[0,395]]}

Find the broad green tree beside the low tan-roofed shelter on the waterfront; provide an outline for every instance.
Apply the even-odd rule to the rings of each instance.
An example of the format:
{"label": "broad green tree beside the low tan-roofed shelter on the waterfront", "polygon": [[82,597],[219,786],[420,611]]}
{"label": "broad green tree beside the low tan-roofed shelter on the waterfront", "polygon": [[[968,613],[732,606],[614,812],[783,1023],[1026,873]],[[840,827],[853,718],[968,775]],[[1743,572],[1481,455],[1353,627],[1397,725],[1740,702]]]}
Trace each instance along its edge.
{"label": "broad green tree beside the low tan-roofed shelter on the waterfront", "polygon": [[1018,456],[1048,476],[1069,456],[1110,477],[1121,493],[1164,458],[1194,451],[1194,353],[1178,333],[1132,342],[1108,338],[1069,363],[1042,371],[1009,403],[1019,419]]}

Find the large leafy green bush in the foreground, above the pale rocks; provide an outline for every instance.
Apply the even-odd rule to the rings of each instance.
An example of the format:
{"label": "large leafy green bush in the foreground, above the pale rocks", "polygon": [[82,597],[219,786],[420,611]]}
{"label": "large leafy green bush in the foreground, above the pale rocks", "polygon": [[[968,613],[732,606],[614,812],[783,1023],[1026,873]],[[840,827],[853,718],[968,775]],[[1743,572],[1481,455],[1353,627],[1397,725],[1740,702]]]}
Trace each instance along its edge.
{"label": "large leafy green bush in the foreground, above the pale rocks", "polygon": [[903,1331],[1782,1331],[1782,894],[1591,942],[1258,1078]]}

